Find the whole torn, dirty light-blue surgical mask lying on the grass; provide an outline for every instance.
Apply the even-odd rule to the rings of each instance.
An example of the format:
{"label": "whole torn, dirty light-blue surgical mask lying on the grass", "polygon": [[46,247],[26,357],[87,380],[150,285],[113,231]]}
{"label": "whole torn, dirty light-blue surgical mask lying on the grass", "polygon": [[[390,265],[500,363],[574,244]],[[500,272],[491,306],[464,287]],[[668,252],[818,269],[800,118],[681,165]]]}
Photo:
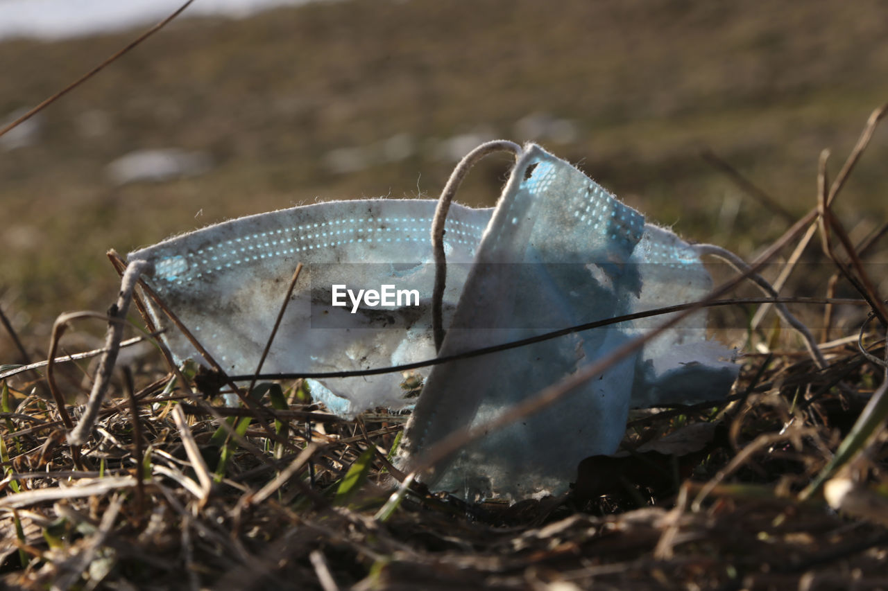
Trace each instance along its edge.
{"label": "whole torn, dirty light-blue surgical mask lying on the grass", "polygon": [[[365,200],[283,209],[165,240],[128,261],[149,269],[147,285],[229,374],[256,371],[298,263],[305,274],[263,373],[400,365],[435,357],[429,227],[436,205]],[[533,145],[519,155],[496,209],[451,207],[444,248],[448,331],[440,355],[694,302],[710,290],[693,247]],[[385,286],[389,295],[414,297],[385,302]],[[376,296],[355,310],[353,296],[371,290]],[[347,305],[334,305],[337,295]],[[167,329],[162,338],[177,361],[209,365],[156,303],[149,301],[149,314]],[[707,340],[705,324],[705,311],[694,313],[569,398],[440,463],[426,482],[472,500],[565,490],[580,460],[615,451],[630,406],[725,396],[737,367],[723,360],[732,351]],[[408,464],[452,430],[487,421],[645,328],[625,322],[434,366],[431,374],[416,370],[428,375],[418,400],[405,396],[400,374],[310,386],[345,417],[416,402],[400,453]]]}

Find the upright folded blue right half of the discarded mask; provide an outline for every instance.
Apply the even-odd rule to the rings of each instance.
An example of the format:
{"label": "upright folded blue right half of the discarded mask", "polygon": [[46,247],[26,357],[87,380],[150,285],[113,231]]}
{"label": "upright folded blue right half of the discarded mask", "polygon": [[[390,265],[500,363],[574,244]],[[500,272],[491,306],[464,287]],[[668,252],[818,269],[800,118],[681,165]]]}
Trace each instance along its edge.
{"label": "upright folded blue right half of the discarded mask", "polygon": [[[694,302],[710,287],[685,241],[530,146],[496,205],[440,354]],[[402,458],[407,463],[451,431],[487,422],[643,330],[623,323],[435,366]],[[731,351],[706,340],[705,312],[696,313],[568,398],[465,447],[427,482],[470,500],[563,492],[579,461],[616,450],[630,406],[725,396],[737,372],[725,357]]]}

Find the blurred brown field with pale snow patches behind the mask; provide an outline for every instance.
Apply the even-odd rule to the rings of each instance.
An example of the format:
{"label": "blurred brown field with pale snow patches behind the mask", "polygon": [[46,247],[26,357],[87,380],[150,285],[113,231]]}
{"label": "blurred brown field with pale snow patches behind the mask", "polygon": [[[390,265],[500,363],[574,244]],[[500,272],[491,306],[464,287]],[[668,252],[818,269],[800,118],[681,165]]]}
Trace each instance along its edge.
{"label": "blurred brown field with pale snow patches behind the mask", "polygon": [[[0,0],[0,121],[177,6]],[[0,307],[28,341],[114,301],[108,248],[313,201],[434,198],[491,138],[536,141],[648,220],[754,256],[814,206],[821,149],[835,175],[888,100],[884,0],[197,0],[186,15],[0,138]],[[886,219],[886,156],[883,128],[836,202],[855,240]],[[492,205],[508,165],[489,158],[457,201]]]}

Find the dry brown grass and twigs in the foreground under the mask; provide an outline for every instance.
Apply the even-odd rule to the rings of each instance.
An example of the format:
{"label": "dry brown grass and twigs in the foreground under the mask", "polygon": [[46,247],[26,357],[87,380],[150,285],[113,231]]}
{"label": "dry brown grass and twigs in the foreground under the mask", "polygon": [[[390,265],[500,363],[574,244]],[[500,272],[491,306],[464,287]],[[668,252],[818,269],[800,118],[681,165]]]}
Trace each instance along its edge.
{"label": "dry brown grass and twigs in the foreground under the mask", "polygon": [[[821,157],[813,209],[763,248],[801,253],[819,234],[838,278],[826,295],[844,281],[870,311],[844,336],[832,307],[807,313],[827,366],[743,309],[753,352],[725,402],[639,412],[622,453],[581,462],[568,493],[509,506],[430,493],[392,466],[403,414],[345,422],[300,380],[258,383],[250,408],[218,406],[205,375],[160,353],[122,364],[91,437],[73,448],[68,413],[80,411],[69,403],[96,369],[63,351],[0,381],[4,584],[888,587],[885,311],[864,264],[884,230],[854,245],[833,211],[884,113],[832,183]],[[738,176],[728,174],[754,187]],[[30,361],[20,349],[0,374]]]}

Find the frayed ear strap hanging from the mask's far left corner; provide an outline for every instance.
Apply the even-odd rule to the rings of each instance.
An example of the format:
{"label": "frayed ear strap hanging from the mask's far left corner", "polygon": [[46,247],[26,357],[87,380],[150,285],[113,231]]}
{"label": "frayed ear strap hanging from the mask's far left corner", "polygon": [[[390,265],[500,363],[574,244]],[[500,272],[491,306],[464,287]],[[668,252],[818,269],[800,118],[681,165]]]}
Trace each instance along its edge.
{"label": "frayed ear strap hanging from the mask's far left corner", "polygon": [[83,445],[89,437],[92,426],[99,416],[102,401],[105,399],[105,391],[111,381],[111,373],[114,371],[117,361],[117,352],[120,351],[120,342],[123,339],[123,322],[126,312],[130,309],[132,291],[139,283],[139,277],[143,272],[151,268],[147,261],[133,261],[126,266],[123,279],[120,282],[120,294],[117,302],[108,313],[107,333],[105,334],[105,353],[99,360],[99,369],[96,371],[95,381],[92,382],[90,399],[86,403],[86,410],[75,428],[68,433],[67,440],[71,445]]}

